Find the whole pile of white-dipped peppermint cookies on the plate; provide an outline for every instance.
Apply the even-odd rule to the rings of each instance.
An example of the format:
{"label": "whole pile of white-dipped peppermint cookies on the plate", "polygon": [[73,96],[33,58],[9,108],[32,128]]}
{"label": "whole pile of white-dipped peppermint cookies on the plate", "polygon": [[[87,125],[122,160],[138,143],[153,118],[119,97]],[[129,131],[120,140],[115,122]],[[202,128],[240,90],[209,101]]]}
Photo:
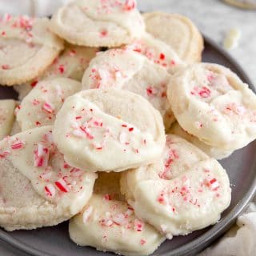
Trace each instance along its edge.
{"label": "whole pile of white-dipped peppermint cookies on the plate", "polygon": [[200,63],[188,18],[79,0],[6,15],[0,33],[0,83],[20,100],[0,102],[4,229],[70,219],[79,246],[148,255],[218,222],[231,190],[216,159],[256,138],[256,96]]}

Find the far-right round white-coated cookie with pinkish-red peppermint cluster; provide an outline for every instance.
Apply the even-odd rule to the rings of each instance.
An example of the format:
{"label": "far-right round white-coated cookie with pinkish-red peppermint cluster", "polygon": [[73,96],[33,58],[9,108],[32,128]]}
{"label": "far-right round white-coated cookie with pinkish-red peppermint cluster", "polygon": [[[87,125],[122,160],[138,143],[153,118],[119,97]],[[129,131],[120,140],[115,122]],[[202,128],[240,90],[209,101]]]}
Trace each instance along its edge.
{"label": "far-right round white-coated cookie with pinkish-red peppermint cluster", "polygon": [[256,138],[256,96],[224,66],[201,63],[181,70],[167,96],[180,126],[207,145],[232,151]]}

